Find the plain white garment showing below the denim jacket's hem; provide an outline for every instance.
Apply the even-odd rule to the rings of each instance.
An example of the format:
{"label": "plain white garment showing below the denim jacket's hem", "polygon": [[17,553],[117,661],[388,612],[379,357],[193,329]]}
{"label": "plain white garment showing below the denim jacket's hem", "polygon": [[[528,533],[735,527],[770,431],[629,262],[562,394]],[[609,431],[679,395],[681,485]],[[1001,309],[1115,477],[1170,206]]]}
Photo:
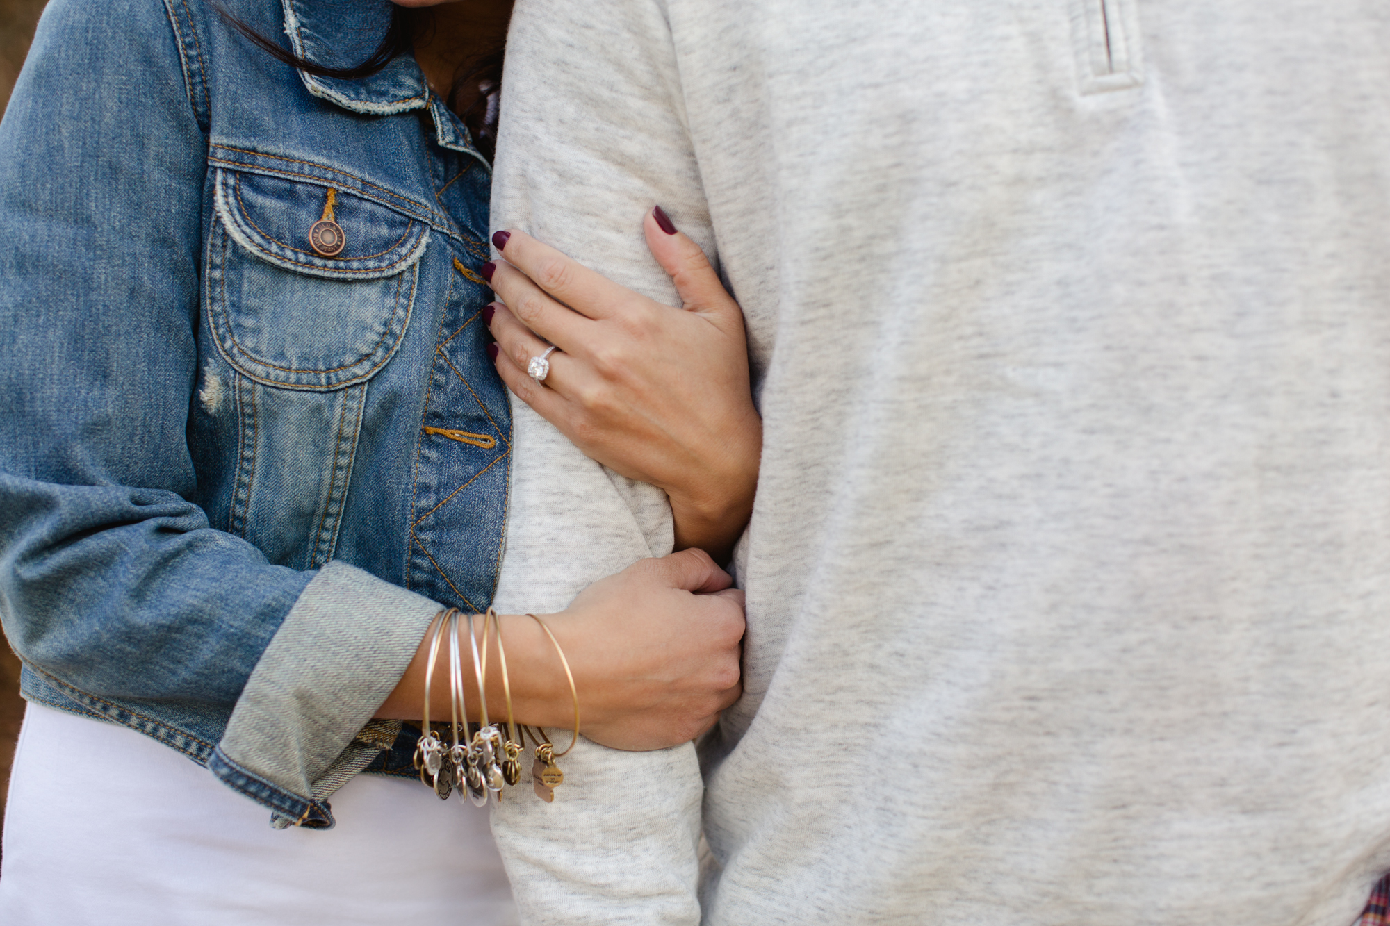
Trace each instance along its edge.
{"label": "plain white garment showing below the denim jacket's hem", "polygon": [[29,705],[14,756],[0,923],[516,923],[488,813],[354,777],[331,830],[270,811],[125,727]]}

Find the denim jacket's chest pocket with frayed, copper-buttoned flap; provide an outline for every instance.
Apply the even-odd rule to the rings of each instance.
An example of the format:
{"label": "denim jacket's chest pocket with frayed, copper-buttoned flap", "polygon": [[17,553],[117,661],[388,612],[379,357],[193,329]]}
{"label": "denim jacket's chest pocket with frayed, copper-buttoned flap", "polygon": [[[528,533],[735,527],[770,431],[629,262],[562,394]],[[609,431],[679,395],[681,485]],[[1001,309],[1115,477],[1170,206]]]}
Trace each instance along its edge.
{"label": "denim jacket's chest pocket with frayed, copper-buttoned flap", "polygon": [[352,192],[218,168],[207,321],[246,377],[329,391],[370,380],[400,345],[430,229]]}

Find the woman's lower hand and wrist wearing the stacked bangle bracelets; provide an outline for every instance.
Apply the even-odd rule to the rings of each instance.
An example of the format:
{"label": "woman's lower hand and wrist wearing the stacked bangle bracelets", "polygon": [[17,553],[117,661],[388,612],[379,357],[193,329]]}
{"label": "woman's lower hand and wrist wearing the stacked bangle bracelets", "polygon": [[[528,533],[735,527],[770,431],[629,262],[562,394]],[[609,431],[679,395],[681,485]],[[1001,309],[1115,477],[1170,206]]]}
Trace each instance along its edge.
{"label": "woman's lower hand and wrist wearing the stacked bangle bracelets", "polygon": [[[639,560],[543,616],[574,673],[584,736],[617,749],[662,749],[714,726],[742,692],[744,594],[730,584],[708,555],[691,549]],[[573,727],[570,685],[541,626],[525,615],[503,615],[502,634],[517,723]],[[464,642],[463,652],[470,649]],[[434,720],[449,717],[446,652],[441,647],[430,692]],[[427,635],[377,716],[420,719],[428,659]],[[464,663],[467,713],[478,720],[477,679],[468,656]],[[505,722],[496,645],[488,647],[486,683],[489,720]]]}

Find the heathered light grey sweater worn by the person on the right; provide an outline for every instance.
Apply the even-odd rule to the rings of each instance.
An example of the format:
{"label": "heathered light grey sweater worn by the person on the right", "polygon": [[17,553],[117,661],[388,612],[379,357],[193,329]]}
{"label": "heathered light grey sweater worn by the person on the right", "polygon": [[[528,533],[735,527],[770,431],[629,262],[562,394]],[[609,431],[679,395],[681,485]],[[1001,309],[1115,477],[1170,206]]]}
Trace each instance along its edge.
{"label": "heathered light grey sweater worn by the person on the right", "polygon": [[[495,227],[673,300],[660,203],[749,321],[706,922],[1355,918],[1390,866],[1386,49],[1379,0],[518,3]],[[552,456],[518,494],[573,478],[532,516],[580,520],[527,580],[637,552]],[[688,769],[589,761],[495,816],[530,922],[694,922],[689,833],[619,840]]]}

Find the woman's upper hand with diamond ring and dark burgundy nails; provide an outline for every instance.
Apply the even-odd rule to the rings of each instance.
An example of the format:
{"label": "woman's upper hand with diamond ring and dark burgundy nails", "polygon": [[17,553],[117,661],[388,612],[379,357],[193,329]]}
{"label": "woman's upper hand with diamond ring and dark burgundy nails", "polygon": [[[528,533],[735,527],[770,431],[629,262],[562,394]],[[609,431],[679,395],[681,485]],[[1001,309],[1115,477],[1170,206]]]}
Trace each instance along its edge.
{"label": "woman's upper hand with diamond ring and dark burgundy nails", "polygon": [[[744,314],[659,207],[644,228],[684,309],[619,286],[530,235],[496,232],[506,261],[484,266],[500,300],[485,310],[493,359],[517,398],[584,453],[666,491],[676,549],[698,546],[724,563],[752,512],[763,441]],[[539,384],[527,364],[546,342],[559,350]]]}

